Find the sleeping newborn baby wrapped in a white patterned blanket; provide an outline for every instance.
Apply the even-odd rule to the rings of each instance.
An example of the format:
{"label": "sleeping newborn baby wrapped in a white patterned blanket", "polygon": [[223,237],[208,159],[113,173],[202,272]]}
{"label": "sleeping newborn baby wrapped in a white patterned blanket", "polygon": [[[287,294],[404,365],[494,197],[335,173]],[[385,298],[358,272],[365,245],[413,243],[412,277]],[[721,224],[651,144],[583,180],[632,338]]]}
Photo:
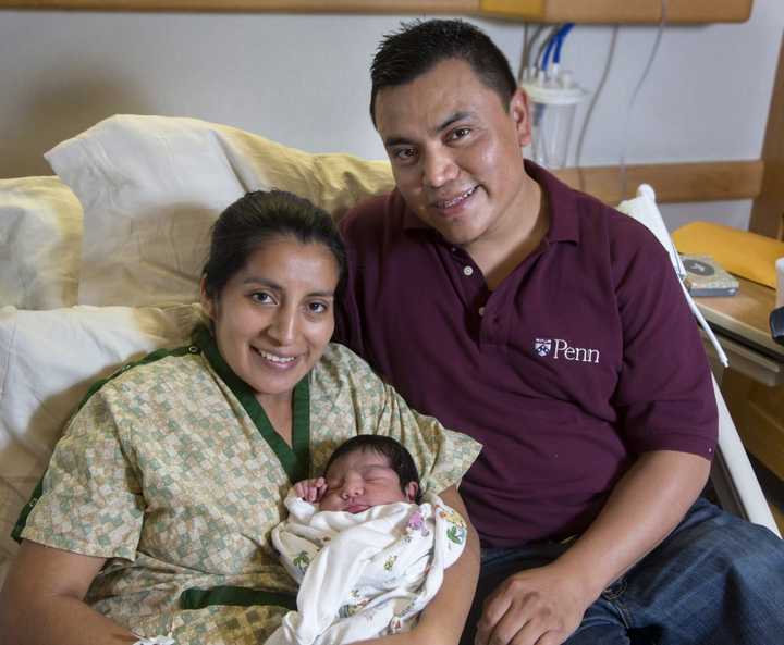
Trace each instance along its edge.
{"label": "sleeping newborn baby wrapped in a white patterned blanket", "polygon": [[420,498],[414,460],[396,441],[358,435],[324,475],[298,482],[272,543],[299,583],[268,645],[352,643],[409,630],[463,551],[466,524],[436,495]]}

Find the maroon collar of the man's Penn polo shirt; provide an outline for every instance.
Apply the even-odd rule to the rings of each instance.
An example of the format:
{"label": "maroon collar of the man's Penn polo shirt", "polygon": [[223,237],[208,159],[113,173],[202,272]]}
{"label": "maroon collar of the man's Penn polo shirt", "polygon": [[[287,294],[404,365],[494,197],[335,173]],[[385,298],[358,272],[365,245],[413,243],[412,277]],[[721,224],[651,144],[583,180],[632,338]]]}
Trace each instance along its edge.
{"label": "maroon collar of the man's Penn polo shirt", "polygon": [[[528,159],[525,160],[525,169],[528,175],[547,194],[548,208],[550,209],[550,228],[544,235],[544,239],[549,243],[579,243],[578,208],[575,190]],[[394,206],[397,200],[403,202],[403,196],[397,188],[390,195],[390,206]],[[428,231],[431,228],[412,209],[405,206],[403,209],[403,230]]]}

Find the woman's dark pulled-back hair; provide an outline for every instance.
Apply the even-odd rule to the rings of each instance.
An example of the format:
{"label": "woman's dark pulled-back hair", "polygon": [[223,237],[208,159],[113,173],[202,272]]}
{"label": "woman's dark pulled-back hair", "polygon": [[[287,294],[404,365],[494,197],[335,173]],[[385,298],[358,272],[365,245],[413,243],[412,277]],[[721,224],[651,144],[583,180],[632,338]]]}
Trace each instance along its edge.
{"label": "woman's dark pulled-back hair", "polygon": [[340,290],[346,253],[329,213],[291,193],[256,190],[229,206],[212,225],[209,258],[201,271],[207,297],[218,298],[248,258],[278,237],[326,246],[338,263]]}

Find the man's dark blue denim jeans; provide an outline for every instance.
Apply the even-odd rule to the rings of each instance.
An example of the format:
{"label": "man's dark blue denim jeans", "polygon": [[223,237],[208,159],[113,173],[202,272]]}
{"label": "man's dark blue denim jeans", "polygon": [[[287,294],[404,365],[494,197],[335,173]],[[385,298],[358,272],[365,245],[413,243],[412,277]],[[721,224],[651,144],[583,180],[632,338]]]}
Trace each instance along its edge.
{"label": "man's dark blue denim jeans", "polygon": [[[511,574],[568,545],[482,549],[461,645],[471,645],[485,598]],[[586,611],[567,645],[775,645],[784,642],[784,542],[698,499],[673,533]]]}

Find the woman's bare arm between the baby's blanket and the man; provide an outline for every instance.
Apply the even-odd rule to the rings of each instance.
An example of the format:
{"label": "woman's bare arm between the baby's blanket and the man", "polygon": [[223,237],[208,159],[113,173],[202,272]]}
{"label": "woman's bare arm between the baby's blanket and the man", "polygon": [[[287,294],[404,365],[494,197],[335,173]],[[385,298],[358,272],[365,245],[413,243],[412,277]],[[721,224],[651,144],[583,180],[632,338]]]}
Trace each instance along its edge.
{"label": "woman's bare arm between the baby's blanket and the man", "polygon": [[468,526],[466,545],[454,565],[444,571],[443,583],[411,632],[362,641],[356,645],[456,645],[460,642],[479,578],[479,535],[468,521],[457,488],[450,486],[440,494]]}

